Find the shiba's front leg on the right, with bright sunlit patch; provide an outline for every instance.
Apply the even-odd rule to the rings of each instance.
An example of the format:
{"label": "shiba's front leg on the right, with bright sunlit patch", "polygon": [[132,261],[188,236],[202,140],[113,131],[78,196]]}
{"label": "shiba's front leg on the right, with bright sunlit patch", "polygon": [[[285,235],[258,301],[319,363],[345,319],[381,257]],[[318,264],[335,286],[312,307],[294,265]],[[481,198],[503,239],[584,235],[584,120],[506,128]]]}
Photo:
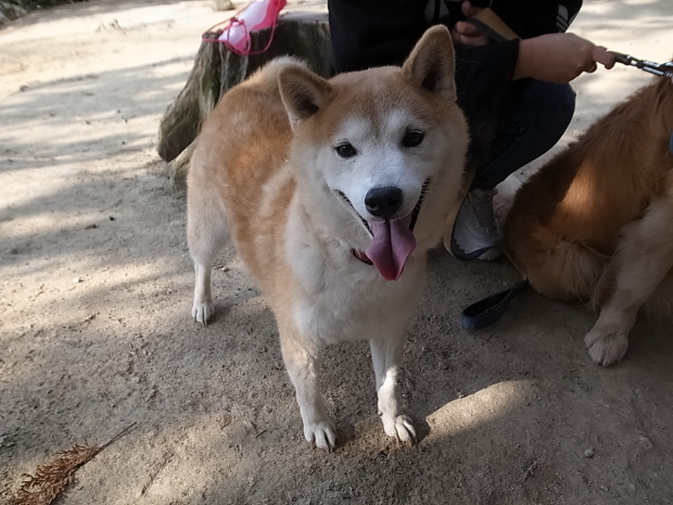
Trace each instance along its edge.
{"label": "shiba's front leg on the right, with bright sunlit patch", "polygon": [[405,337],[370,340],[371,361],[377,378],[379,396],[379,416],[383,421],[383,430],[389,437],[402,442],[416,442],[416,430],[411,419],[402,413],[397,393],[397,373],[404,350]]}

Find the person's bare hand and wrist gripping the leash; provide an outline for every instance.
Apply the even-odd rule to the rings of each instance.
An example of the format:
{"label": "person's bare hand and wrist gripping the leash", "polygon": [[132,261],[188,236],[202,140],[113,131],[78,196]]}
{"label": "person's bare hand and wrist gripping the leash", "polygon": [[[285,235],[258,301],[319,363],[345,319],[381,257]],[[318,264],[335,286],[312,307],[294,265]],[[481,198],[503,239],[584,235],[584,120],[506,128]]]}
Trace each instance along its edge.
{"label": "person's bare hand and wrist gripping the leash", "polygon": [[596,72],[597,63],[612,68],[614,54],[573,34],[541,35],[519,42],[513,78],[570,83],[584,72]]}

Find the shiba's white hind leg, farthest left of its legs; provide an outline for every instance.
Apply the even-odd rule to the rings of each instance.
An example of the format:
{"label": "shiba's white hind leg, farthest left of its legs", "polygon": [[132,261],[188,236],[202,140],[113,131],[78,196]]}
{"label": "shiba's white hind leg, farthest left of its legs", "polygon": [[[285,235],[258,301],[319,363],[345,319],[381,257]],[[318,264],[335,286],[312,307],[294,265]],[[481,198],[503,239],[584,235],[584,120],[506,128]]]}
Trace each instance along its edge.
{"label": "shiba's white hind leg, farthest left of its legs", "polygon": [[187,242],[196,275],[192,316],[195,321],[205,326],[215,314],[211,293],[211,267],[227,243],[229,233],[224,210],[214,190],[205,187],[199,189],[198,192],[188,192]]}

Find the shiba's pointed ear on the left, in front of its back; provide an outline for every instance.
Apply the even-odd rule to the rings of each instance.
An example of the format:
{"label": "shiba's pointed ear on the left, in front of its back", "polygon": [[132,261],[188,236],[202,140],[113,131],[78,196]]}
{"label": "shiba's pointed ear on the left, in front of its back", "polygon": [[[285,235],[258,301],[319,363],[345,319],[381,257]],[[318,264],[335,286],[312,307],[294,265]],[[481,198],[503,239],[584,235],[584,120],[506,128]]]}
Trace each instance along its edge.
{"label": "shiba's pointed ear on the left, in front of its back", "polygon": [[326,79],[299,65],[280,71],[278,86],[292,128],[323,109],[332,96]]}

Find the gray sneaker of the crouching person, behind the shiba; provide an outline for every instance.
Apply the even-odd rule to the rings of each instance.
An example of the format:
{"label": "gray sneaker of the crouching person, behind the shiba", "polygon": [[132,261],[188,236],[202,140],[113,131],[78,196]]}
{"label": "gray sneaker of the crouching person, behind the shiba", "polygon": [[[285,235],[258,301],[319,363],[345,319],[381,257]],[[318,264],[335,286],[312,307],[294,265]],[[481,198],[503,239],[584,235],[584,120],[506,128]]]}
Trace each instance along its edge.
{"label": "gray sneaker of the crouching person, behind the shiba", "polygon": [[[465,253],[503,243],[503,230],[493,213],[493,197],[496,193],[496,189],[473,189],[462,202],[454,226],[454,238]],[[499,256],[500,251],[492,249],[479,260],[491,261]]]}

